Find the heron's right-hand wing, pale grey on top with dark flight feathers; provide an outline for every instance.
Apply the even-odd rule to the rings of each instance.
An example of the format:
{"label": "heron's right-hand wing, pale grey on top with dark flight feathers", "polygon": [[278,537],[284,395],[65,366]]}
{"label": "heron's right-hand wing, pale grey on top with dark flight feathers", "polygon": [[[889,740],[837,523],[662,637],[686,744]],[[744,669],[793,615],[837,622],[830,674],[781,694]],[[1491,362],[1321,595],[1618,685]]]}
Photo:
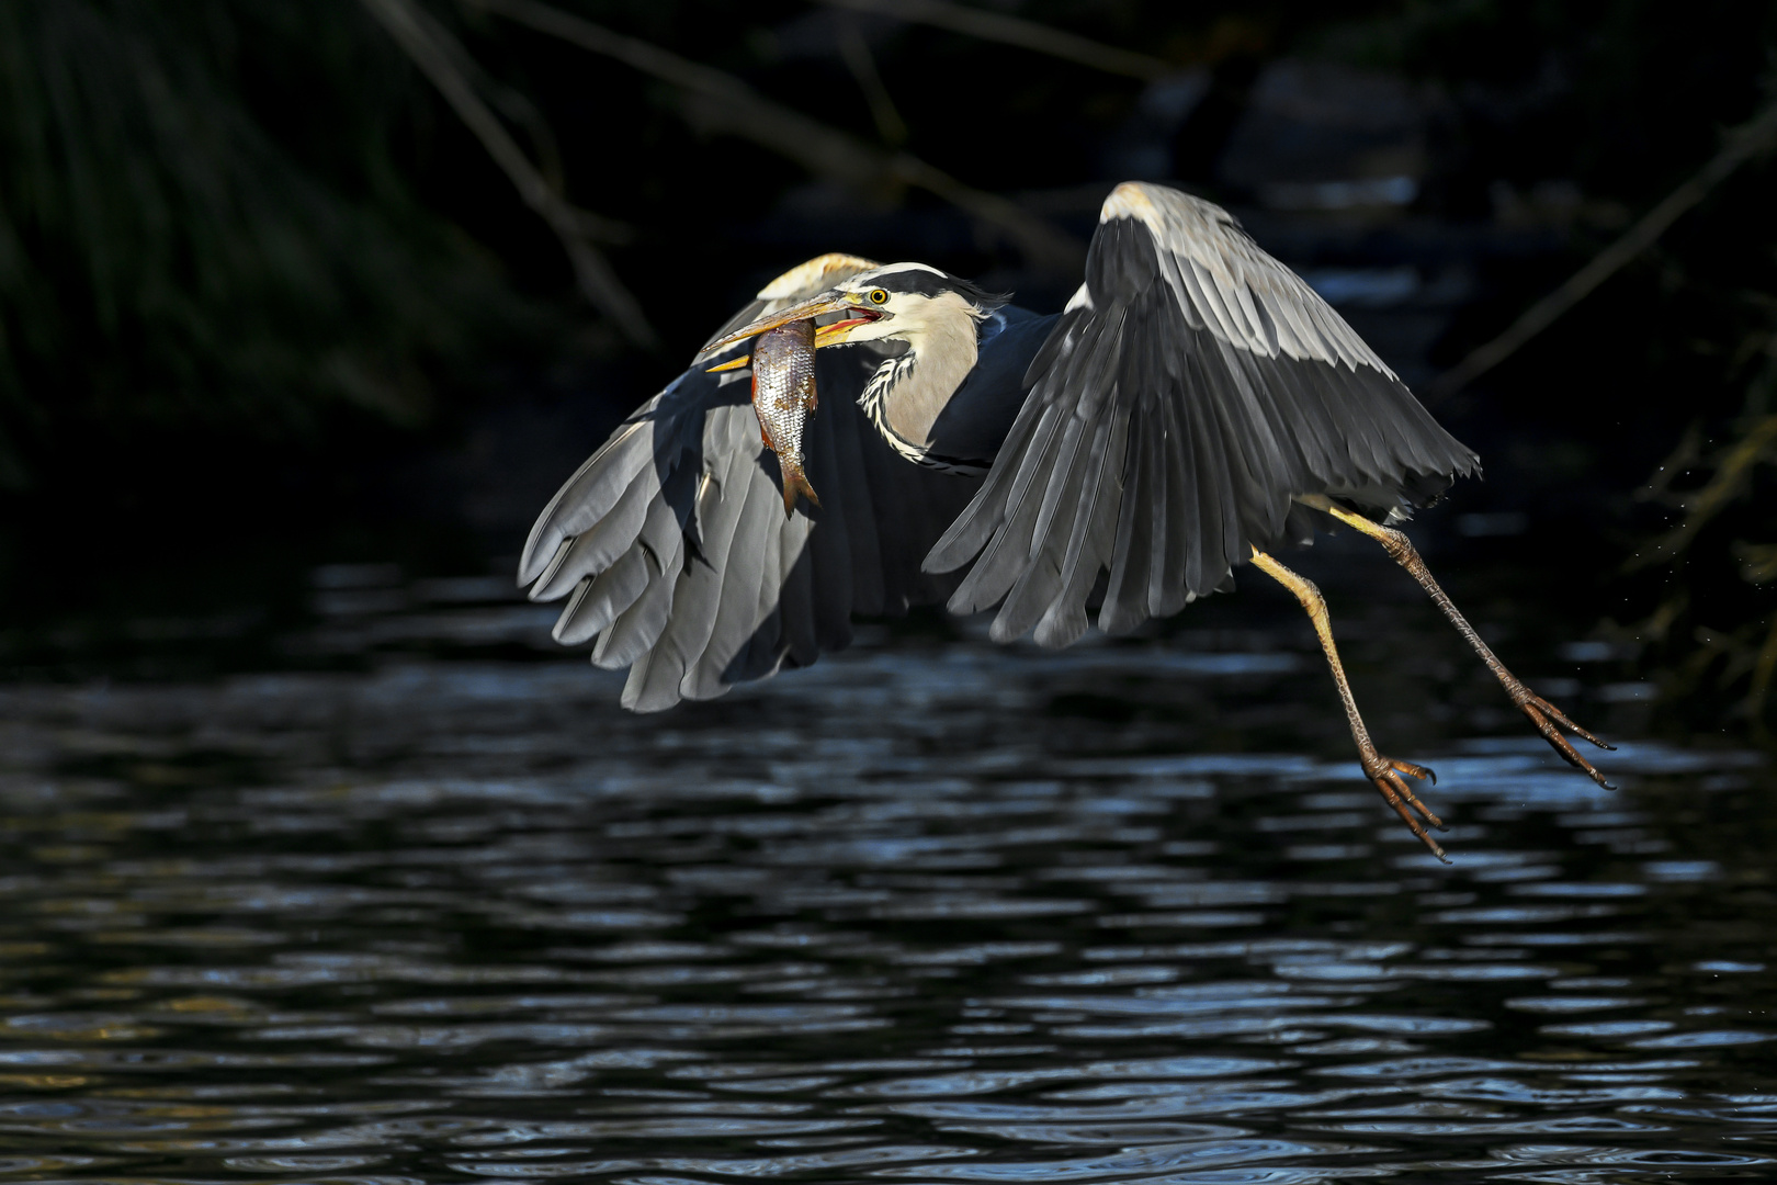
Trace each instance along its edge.
{"label": "heron's right-hand wing, pale grey on top with dark flight feathers", "polygon": [[1127,183],[981,492],[926,560],[993,636],[1128,631],[1311,535],[1301,494],[1422,505],[1475,455],[1219,206]]}

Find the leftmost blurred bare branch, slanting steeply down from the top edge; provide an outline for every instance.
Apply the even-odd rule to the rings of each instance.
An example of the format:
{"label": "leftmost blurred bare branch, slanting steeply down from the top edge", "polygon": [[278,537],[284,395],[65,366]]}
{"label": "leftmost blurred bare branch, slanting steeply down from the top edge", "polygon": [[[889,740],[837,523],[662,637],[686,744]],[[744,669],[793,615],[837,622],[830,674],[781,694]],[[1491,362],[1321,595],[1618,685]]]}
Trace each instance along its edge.
{"label": "leftmost blurred bare branch, slanting steeply down from the top edge", "polygon": [[586,210],[570,206],[537,171],[519,144],[506,131],[505,124],[487,108],[487,103],[474,92],[458,62],[467,55],[450,32],[414,7],[410,0],[363,0],[370,14],[396,44],[407,52],[414,66],[432,80],[444,101],[451,105],[457,117],[482,142],[487,155],[501,167],[512,185],[519,190],[524,204],[535,210],[549,224],[549,229],[562,240],[569,263],[574,266],[574,279],[581,293],[595,309],[617,322],[624,336],[640,346],[656,345],[654,330],[649,329],[641,306],[617,279],[610,261],[592,240],[615,240],[624,236],[626,227],[610,219],[602,219]]}

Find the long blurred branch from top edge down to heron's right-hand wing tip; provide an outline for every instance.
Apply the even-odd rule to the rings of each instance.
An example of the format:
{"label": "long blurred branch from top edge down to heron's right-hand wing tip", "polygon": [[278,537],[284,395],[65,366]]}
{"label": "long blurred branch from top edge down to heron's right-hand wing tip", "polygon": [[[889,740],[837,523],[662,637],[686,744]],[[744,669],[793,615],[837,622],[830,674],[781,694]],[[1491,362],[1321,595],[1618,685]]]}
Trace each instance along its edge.
{"label": "long blurred branch from top edge down to heron's right-hand wing tip", "polygon": [[1077,238],[1016,203],[963,185],[915,156],[885,153],[846,131],[773,103],[734,75],[700,66],[638,37],[611,32],[538,0],[464,2],[668,82],[684,92],[686,115],[695,124],[761,144],[794,160],[814,176],[844,181],[864,192],[880,192],[892,183],[915,185],[995,227],[1032,263],[1077,272],[1086,259],[1086,247]]}

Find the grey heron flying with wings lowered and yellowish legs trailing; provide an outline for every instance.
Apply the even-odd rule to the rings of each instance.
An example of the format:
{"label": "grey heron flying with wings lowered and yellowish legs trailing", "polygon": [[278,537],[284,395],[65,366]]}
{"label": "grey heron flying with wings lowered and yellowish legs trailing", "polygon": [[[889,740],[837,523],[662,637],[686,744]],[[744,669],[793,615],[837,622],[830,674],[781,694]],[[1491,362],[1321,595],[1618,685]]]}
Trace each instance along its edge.
{"label": "grey heron flying with wings lowered and yellowish legs trailing", "polygon": [[[819,412],[785,515],[748,400],[746,345],[814,322]],[[725,359],[725,361],[723,361]],[[851,641],[853,616],[944,602],[990,634],[1066,647],[1127,634],[1253,565],[1306,609],[1363,775],[1439,860],[1414,794],[1358,712],[1319,588],[1274,553],[1345,526],[1432,597],[1567,760],[1612,748],[1514,677],[1400,522],[1477,455],[1299,275],[1221,206],[1130,181],[1105,199],[1057,314],[924,263],[848,254],[766,284],[544,508],[519,561],[554,638],[629,668],[622,704],[704,700]]]}

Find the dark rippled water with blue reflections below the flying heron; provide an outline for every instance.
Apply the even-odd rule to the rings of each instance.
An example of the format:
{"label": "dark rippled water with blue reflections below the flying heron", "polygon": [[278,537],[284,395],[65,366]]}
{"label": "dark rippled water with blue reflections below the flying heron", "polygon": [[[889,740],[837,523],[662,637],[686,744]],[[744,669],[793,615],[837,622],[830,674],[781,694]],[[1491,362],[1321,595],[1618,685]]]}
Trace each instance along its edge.
{"label": "dark rippled water with blue reflections below the flying heron", "polygon": [[0,693],[0,1180],[1777,1180],[1754,755],[1379,727],[1446,869],[1295,648],[617,688]]}

